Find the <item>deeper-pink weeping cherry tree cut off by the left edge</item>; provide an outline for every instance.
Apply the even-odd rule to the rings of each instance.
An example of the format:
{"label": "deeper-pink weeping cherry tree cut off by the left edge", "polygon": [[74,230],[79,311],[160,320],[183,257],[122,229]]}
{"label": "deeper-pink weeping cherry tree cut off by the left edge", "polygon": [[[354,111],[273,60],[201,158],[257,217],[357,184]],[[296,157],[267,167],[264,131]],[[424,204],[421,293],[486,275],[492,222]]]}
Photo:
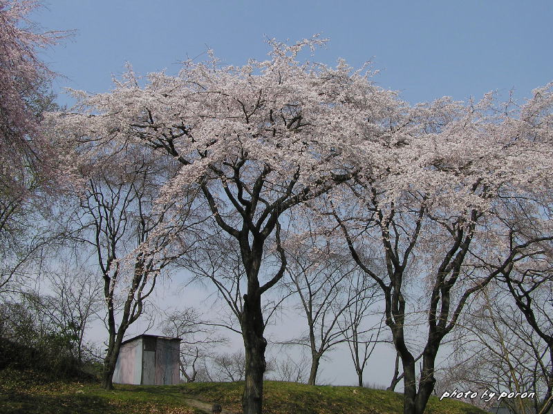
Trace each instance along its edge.
{"label": "deeper-pink weeping cherry tree cut off by the left edge", "polygon": [[47,242],[33,231],[48,205],[44,189],[57,174],[55,152],[41,134],[42,114],[56,108],[50,81],[55,74],[38,52],[67,32],[40,32],[28,19],[33,0],[0,1],[0,290],[28,273],[30,259]]}

